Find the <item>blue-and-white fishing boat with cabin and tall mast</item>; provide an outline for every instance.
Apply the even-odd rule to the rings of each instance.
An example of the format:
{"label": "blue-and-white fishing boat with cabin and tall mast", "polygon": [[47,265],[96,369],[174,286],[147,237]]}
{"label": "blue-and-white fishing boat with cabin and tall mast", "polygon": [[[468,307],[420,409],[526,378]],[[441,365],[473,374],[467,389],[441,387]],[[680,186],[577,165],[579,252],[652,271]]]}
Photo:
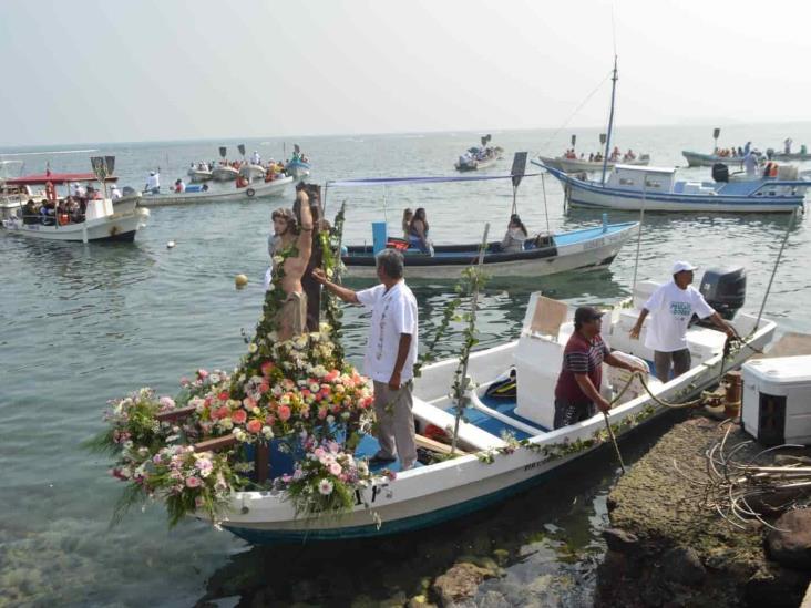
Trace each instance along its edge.
{"label": "blue-and-white fishing boat with cabin and tall mast", "polygon": [[[573,207],[646,212],[791,213],[803,207],[811,181],[797,167],[783,178],[751,177],[716,182],[677,181],[676,168],[616,165],[607,181],[586,179],[543,165],[564,188]],[[793,171],[792,171],[793,169]]]}

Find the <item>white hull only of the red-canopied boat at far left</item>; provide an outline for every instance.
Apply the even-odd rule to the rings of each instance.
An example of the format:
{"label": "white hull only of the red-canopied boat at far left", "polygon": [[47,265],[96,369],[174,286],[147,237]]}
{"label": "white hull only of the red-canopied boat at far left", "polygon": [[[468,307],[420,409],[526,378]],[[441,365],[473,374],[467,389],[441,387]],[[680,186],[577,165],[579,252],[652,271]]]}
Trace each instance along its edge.
{"label": "white hull only of the red-canopied boat at far left", "polygon": [[17,218],[3,220],[2,226],[11,234],[45,240],[129,243],[135,239],[135,234],[145,225],[147,217],[146,209],[136,209],[131,214],[114,214],[65,226],[23,224]]}

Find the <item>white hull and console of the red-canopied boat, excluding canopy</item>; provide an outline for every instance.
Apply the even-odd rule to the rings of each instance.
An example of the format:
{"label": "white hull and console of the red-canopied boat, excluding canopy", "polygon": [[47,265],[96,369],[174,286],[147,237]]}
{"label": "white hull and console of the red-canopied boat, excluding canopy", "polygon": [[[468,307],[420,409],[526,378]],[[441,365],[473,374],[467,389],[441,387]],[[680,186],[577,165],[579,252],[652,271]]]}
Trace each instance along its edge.
{"label": "white hull and console of the red-canopied boat, excluding canopy", "polygon": [[20,214],[3,219],[2,227],[9,233],[49,240],[132,241],[148,217],[148,209],[133,206],[132,210],[122,213],[110,198],[102,198],[88,202],[83,221],[60,224],[51,218],[50,224],[42,224],[40,217]]}

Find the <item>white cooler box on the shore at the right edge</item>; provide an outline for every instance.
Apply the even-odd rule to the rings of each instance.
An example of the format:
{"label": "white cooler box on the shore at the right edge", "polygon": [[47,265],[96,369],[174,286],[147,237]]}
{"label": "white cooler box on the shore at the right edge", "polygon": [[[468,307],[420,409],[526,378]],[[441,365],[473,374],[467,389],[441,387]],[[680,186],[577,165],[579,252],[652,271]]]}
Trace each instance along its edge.
{"label": "white cooler box on the shore at the right edge", "polygon": [[763,445],[811,445],[811,355],[743,364],[741,423]]}

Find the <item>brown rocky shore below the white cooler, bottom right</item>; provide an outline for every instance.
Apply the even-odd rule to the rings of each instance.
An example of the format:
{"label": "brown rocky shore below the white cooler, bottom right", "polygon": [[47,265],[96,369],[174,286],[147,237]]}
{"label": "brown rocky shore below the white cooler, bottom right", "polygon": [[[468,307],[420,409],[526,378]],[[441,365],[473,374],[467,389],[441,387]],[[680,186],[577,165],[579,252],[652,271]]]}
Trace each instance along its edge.
{"label": "brown rocky shore below the white cooler, bottom right", "polygon": [[[736,527],[708,506],[706,452],[727,426],[702,415],[679,423],[619,480],[597,606],[800,606],[811,580],[811,509],[773,512],[767,521],[790,530],[777,533],[757,521]],[[750,439],[735,425],[727,445]],[[762,450],[751,442],[736,456]]]}

